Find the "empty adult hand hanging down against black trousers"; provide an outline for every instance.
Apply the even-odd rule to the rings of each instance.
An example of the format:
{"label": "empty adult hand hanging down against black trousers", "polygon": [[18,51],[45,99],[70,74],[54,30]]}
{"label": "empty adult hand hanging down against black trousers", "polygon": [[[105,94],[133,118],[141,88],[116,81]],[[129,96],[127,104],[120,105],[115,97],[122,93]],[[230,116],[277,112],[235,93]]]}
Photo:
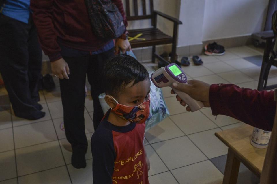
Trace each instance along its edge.
{"label": "empty adult hand hanging down against black trousers", "polygon": [[59,79],[69,79],[69,67],[63,58],[51,62],[51,70]]}

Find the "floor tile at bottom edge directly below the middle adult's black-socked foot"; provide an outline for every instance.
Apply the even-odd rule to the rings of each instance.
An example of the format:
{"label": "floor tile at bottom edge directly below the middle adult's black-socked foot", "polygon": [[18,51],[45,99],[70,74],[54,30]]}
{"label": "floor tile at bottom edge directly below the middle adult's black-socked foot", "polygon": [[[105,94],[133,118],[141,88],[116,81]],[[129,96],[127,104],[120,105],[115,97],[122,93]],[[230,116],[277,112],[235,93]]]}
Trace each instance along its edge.
{"label": "floor tile at bottom edge directly below the middle adult's black-socked foot", "polygon": [[68,165],[68,172],[73,184],[91,184],[92,179],[92,159],[87,160],[87,167],[76,169],[71,164]]}

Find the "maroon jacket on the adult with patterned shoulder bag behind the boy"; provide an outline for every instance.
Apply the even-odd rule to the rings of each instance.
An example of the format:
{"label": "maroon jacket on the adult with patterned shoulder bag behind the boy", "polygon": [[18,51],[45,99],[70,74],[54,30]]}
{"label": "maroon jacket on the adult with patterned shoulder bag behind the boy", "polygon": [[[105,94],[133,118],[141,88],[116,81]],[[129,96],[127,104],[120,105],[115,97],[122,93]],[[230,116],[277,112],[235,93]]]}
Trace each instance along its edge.
{"label": "maroon jacket on the adult with patterned shoulder bag behind the boy", "polygon": [[[112,1],[127,26],[122,1]],[[97,51],[107,43],[93,34],[84,0],[31,0],[30,6],[42,50],[50,61],[61,58],[59,44],[83,51]]]}

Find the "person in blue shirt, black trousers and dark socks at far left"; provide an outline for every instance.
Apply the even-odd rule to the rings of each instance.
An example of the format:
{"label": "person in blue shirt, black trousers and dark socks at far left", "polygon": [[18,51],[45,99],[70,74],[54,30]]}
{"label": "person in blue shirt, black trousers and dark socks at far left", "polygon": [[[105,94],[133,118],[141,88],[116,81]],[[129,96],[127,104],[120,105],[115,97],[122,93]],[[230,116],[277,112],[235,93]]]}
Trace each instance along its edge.
{"label": "person in blue shirt, black trousers and dark socks at far left", "polygon": [[38,94],[42,51],[30,0],[6,0],[0,6],[0,73],[14,114],[36,120],[45,116]]}

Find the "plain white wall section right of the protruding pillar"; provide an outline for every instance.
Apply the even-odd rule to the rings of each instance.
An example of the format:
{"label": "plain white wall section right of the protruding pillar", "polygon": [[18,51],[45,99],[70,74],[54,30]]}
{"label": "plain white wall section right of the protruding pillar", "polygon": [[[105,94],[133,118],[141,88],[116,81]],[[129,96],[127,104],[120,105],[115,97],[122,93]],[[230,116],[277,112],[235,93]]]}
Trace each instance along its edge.
{"label": "plain white wall section right of the protruding pillar", "polygon": [[268,2],[269,0],[205,0],[203,41],[262,31]]}

